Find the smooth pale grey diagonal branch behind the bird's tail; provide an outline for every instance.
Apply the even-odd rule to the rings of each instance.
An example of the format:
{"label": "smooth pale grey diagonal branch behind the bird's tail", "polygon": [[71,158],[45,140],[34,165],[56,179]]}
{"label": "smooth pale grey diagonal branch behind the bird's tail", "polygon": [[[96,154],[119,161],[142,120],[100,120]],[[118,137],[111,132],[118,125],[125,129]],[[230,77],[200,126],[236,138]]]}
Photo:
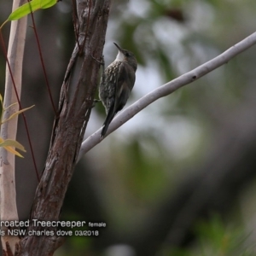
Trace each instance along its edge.
{"label": "smooth pale grey diagonal branch behind the bird's tail", "polygon": [[[149,92],[146,96],[143,96],[137,102],[133,103],[129,108],[125,108],[125,110],[122,113],[119,113],[119,115],[115,119],[113,119],[113,122],[109,125],[107,135],[118,129],[119,126],[125,124],[125,122],[127,122],[134,115],[142,111],[143,108],[146,108],[149,104],[155,102],[163,96],[170,95],[175,90],[183,87],[186,84],[194,82],[196,79],[200,79],[202,76],[212,72],[217,67],[223,66],[236,55],[239,55],[241,52],[252,47],[254,44],[256,44],[256,32],[254,32],[247,38],[241,40],[241,42],[239,42],[238,44],[235,44],[234,46],[230,47],[230,49],[227,49],[226,51],[224,51],[224,53],[218,55],[211,61],[207,61],[201,66],[196,67],[188,73],[181,75],[177,79],[173,79],[172,81],[163,84],[162,86],[153,90],[152,92]],[[88,152],[91,148],[94,148],[96,144],[101,142],[101,130],[102,128],[84,140],[80,148],[78,161],[86,152]]]}

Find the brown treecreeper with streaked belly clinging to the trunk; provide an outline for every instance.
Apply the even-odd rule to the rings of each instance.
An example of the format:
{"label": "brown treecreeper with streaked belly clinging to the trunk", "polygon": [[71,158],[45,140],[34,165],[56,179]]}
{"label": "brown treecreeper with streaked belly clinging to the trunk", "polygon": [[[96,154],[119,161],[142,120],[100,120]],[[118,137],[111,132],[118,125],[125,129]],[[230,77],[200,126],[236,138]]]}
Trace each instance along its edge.
{"label": "brown treecreeper with streaked belly clinging to the trunk", "polygon": [[135,55],[113,43],[119,50],[115,60],[105,69],[99,86],[99,97],[107,117],[102,125],[101,138],[105,137],[113,117],[122,108],[135,84],[137,60]]}

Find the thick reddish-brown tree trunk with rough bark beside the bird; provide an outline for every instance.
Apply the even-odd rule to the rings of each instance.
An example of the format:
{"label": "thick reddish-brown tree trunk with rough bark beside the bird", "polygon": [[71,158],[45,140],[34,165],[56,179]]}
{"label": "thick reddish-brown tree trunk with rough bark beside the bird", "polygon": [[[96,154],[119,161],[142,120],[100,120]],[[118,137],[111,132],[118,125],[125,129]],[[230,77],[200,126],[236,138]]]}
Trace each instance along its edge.
{"label": "thick reddish-brown tree trunk with rough bark beside the bird", "polygon": [[[108,23],[110,1],[77,1],[78,42],[61,88],[49,154],[32,206],[31,220],[58,220],[68,183],[73,175],[84,131],[90,118],[97,75]],[[43,228],[55,231],[54,228]],[[29,231],[40,231],[33,226]],[[28,233],[27,233],[28,234]],[[52,255],[61,237],[25,236],[21,255]]]}

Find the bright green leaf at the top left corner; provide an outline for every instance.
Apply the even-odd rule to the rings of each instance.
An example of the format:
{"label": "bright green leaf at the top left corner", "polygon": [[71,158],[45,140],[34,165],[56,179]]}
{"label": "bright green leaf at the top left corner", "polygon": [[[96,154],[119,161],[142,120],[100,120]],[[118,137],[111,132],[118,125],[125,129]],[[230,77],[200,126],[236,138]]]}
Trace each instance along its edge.
{"label": "bright green leaf at the top left corner", "polygon": [[55,5],[55,3],[57,3],[57,0],[32,0],[15,9],[15,11],[9,15],[8,20],[19,20],[31,12],[35,12],[38,9],[47,9]]}

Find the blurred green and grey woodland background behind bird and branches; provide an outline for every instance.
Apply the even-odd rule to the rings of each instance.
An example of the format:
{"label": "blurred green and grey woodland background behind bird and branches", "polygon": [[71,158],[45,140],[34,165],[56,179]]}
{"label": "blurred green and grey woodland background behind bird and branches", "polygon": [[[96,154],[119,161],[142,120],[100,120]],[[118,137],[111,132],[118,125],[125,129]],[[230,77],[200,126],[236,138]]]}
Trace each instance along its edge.
{"label": "blurred green and grey woodland background behind bird and branches", "polygon": [[[104,56],[135,53],[137,81],[127,105],[189,72],[255,31],[253,0],[114,0]],[[0,21],[11,3],[0,3]],[[35,13],[55,104],[74,46],[72,2]],[[32,25],[29,20],[29,25]],[[3,28],[8,42],[9,25]],[[4,59],[0,55],[3,93]],[[256,255],[256,48],[154,102],[79,162],[63,220],[105,222],[100,236],[67,237],[55,255]],[[96,96],[97,97],[97,96]],[[38,49],[28,27],[22,106],[40,171],[54,118]],[[85,137],[105,118],[92,110]],[[28,143],[22,119],[18,141]],[[17,160],[20,219],[37,179],[31,155]]]}

